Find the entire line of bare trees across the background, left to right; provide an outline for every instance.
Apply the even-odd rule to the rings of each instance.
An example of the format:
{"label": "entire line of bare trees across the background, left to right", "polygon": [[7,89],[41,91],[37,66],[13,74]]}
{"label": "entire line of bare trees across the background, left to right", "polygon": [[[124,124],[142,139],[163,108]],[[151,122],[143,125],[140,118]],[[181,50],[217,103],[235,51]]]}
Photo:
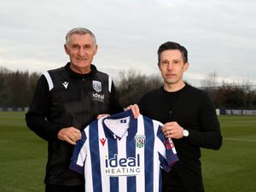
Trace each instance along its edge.
{"label": "entire line of bare trees across the background, left to right", "polygon": [[[28,107],[40,76],[40,73],[14,72],[0,67],[0,108]],[[135,70],[120,72],[114,83],[123,107],[137,103],[144,93],[163,84],[160,75],[147,76]],[[208,92],[216,108],[256,108],[256,92],[249,83],[222,82],[217,85],[217,73],[210,73],[201,85],[200,89]]]}

